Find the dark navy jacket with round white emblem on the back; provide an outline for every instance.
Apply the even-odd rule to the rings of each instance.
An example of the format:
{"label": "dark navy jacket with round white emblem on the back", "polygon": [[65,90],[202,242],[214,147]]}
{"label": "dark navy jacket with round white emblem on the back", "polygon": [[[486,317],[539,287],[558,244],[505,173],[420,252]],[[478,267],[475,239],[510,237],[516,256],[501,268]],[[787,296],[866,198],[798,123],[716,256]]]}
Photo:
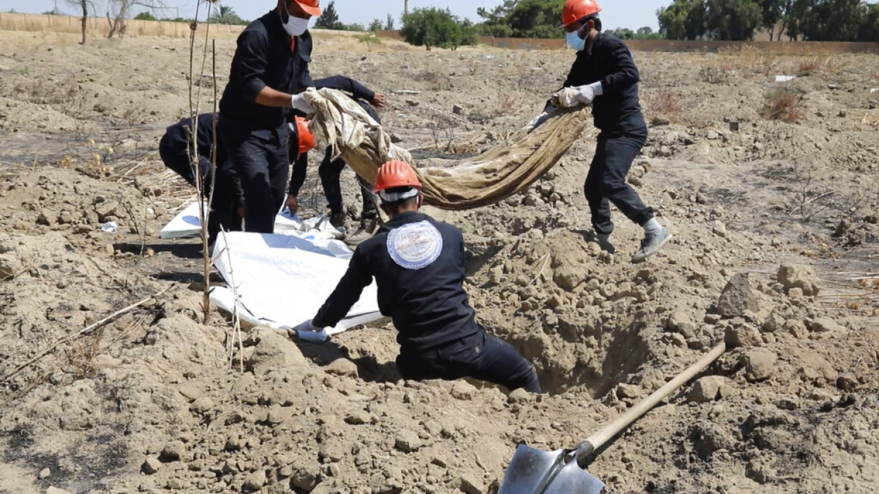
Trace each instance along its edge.
{"label": "dark navy jacket with round white emblem on the back", "polygon": [[[389,247],[389,236],[394,229],[406,225],[418,227],[413,223],[419,222],[428,222],[439,231],[442,248],[429,265],[403,267],[391,257],[393,250]],[[417,245],[410,253],[417,252],[421,256],[423,251],[418,249],[429,251],[431,247],[439,247],[439,244]],[[360,243],[348,271],[312,323],[320,327],[335,326],[360,299],[363,288],[375,279],[379,309],[381,314],[394,320],[401,352],[418,352],[468,338],[476,334],[479,327],[462,285],[464,263],[461,230],[437,222],[426,214],[399,214],[382,225],[375,236]]]}

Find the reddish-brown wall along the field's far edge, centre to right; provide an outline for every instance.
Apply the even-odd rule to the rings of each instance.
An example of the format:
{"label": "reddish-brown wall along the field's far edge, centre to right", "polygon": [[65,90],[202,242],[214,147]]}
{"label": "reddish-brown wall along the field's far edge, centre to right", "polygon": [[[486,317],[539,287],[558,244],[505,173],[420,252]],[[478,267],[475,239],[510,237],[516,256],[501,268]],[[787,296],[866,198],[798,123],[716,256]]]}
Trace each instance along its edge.
{"label": "reddish-brown wall along the field's far edge, centre to right", "polygon": [[[379,36],[399,40],[399,31],[380,31]],[[516,49],[562,49],[562,38],[555,40],[532,40],[527,38],[495,38],[480,36],[483,45]],[[717,52],[752,48],[773,54],[879,54],[879,43],[847,43],[825,41],[679,41],[679,40],[627,40],[633,51],[643,52]]]}

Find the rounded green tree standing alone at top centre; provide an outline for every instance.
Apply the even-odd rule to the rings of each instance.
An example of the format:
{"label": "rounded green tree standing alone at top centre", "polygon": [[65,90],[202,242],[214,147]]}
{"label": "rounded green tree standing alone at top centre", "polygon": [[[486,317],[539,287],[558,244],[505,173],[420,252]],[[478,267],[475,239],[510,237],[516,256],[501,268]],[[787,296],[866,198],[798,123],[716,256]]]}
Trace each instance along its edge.
{"label": "rounded green tree standing alone at top centre", "polygon": [[461,45],[476,44],[476,34],[469,21],[461,21],[448,9],[436,7],[415,9],[403,15],[403,40],[417,47],[455,49]]}

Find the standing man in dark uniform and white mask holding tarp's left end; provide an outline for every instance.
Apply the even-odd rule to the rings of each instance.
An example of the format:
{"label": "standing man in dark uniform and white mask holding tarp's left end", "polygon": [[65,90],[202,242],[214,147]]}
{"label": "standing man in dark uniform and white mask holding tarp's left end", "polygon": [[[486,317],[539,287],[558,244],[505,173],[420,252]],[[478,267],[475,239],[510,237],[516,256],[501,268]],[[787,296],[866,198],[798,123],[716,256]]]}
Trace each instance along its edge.
{"label": "standing man in dark uniform and white mask holding tarp's left end", "polygon": [[[229,156],[217,190],[226,200],[237,185],[246,204],[244,228],[272,233],[287,196],[287,114],[312,113],[298,94],[311,83],[309,18],[318,0],[278,0],[238,36],[229,84],[220,100],[220,127]],[[221,190],[220,185],[228,185]]]}

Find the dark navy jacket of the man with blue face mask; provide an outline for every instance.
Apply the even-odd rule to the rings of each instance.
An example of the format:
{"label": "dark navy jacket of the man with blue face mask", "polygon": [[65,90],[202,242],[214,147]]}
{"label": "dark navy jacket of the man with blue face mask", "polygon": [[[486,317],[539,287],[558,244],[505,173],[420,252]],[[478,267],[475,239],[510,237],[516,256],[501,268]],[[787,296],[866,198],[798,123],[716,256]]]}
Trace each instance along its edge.
{"label": "dark navy jacket of the man with blue face mask", "polygon": [[592,54],[577,52],[563,87],[601,81],[601,96],[592,103],[595,127],[603,132],[644,132],[647,126],[638,104],[638,69],[623,42],[599,33],[592,41]]}

